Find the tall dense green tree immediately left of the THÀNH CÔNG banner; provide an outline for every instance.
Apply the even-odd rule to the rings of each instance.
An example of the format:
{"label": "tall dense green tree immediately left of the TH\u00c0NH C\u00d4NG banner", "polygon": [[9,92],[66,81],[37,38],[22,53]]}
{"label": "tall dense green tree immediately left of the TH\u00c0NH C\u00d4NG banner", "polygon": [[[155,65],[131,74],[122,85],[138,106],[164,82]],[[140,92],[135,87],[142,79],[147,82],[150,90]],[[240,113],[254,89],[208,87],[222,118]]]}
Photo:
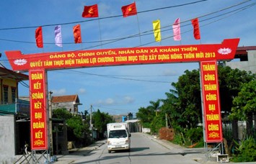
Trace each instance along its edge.
{"label": "tall dense green tree immediately left of the TH\u00c0NH C\u00d4NG banner", "polygon": [[185,75],[180,76],[172,86],[178,95],[176,106],[179,110],[176,111],[180,114],[180,126],[187,129],[196,127],[202,118],[199,71],[185,70]]}

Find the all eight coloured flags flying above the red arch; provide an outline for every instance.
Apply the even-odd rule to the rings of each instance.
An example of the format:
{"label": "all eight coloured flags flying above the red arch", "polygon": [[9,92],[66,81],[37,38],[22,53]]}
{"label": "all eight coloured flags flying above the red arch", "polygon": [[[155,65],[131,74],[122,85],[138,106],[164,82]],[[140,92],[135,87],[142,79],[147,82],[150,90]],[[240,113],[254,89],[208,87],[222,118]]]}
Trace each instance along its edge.
{"label": "all eight coloured flags flying above the red arch", "polygon": [[[133,2],[132,4],[128,4],[126,6],[121,7],[123,17],[129,17],[137,14],[136,3]],[[81,17],[84,18],[93,18],[99,17],[98,6],[94,4],[92,6],[84,6],[84,11],[81,14]],[[161,26],[160,20],[154,20],[153,22],[153,32],[154,38],[156,42],[161,41]],[[200,28],[199,28],[199,21],[198,18],[192,19],[191,23],[193,25],[193,35],[195,40],[200,40]],[[177,18],[172,24],[173,29],[173,39],[174,40],[181,40],[180,35],[180,18]],[[55,34],[55,44],[58,47],[62,47],[62,37],[61,37],[61,25],[58,25],[54,28]],[[74,34],[74,42],[81,43],[81,27],[80,24],[76,24],[73,27],[73,34]],[[35,29],[35,40],[37,47],[43,48],[43,29],[42,27],[37,27]]]}

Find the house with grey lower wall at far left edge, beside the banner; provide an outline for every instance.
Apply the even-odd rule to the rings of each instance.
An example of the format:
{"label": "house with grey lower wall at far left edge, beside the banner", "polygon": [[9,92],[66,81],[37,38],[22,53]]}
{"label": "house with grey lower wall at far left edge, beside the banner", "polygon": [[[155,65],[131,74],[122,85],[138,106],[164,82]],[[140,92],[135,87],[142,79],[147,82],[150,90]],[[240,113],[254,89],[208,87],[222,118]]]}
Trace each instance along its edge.
{"label": "house with grey lower wall at far left edge, beside the banner", "polygon": [[30,103],[18,99],[19,83],[28,79],[0,67],[0,163],[13,163],[14,155],[23,153],[25,143],[30,142]]}

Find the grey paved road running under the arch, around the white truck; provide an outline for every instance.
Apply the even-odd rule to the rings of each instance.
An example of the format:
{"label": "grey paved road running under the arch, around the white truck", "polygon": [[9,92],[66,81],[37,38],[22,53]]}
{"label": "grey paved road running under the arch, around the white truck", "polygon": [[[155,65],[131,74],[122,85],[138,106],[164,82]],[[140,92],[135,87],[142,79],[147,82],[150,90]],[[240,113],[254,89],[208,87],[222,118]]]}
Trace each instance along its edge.
{"label": "grey paved road running under the arch, around the white truck", "polygon": [[216,159],[205,160],[202,149],[190,150],[164,140],[157,140],[142,133],[131,134],[131,152],[107,152],[105,141],[96,142],[89,147],[58,156],[57,163],[216,163]]}

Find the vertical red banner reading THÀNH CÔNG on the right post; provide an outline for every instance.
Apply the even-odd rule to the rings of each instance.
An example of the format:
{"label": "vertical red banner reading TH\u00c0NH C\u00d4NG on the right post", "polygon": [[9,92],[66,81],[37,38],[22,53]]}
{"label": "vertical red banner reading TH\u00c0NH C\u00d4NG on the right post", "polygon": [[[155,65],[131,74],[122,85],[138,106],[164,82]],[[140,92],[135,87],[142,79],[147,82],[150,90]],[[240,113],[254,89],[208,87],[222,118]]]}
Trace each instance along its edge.
{"label": "vertical red banner reading TH\u00c0NH C\u00d4NG on the right post", "polygon": [[201,61],[200,74],[203,92],[203,112],[206,142],[222,142],[221,107],[216,60]]}

